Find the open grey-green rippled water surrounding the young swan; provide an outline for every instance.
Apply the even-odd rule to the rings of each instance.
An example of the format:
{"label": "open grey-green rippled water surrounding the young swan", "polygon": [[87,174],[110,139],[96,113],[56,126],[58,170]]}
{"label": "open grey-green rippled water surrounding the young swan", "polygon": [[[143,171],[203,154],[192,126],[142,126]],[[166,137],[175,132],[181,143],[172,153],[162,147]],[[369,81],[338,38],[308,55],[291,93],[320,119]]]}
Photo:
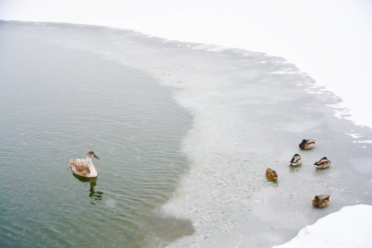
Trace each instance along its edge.
{"label": "open grey-green rippled water surrounding the young swan", "polygon": [[[0,247],[155,247],[191,234],[157,211],[188,170],[192,118],[172,89],[12,32],[0,32]],[[93,180],[70,168],[88,151],[100,158]]]}

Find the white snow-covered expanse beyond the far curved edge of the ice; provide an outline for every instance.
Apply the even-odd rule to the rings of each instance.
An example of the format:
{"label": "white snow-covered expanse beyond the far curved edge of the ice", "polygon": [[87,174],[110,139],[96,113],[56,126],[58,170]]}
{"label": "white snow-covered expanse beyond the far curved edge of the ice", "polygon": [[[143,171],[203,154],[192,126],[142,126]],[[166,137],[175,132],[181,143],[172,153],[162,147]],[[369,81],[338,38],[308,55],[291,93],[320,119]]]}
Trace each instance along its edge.
{"label": "white snow-covered expanse beyond the far curved edge of the ice", "polygon": [[370,127],[371,13],[369,0],[0,0],[1,20],[113,26],[283,57]]}

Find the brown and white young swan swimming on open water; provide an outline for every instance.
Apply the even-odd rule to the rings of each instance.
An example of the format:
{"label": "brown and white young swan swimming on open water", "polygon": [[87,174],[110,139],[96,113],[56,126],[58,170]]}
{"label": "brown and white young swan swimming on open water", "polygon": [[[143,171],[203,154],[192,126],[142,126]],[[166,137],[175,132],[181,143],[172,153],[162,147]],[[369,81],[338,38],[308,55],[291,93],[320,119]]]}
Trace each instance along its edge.
{"label": "brown and white young swan swimming on open water", "polygon": [[72,172],[82,177],[96,177],[98,173],[96,167],[93,165],[92,160],[90,159],[92,157],[99,159],[94,152],[88,152],[86,159],[71,159],[70,164]]}

